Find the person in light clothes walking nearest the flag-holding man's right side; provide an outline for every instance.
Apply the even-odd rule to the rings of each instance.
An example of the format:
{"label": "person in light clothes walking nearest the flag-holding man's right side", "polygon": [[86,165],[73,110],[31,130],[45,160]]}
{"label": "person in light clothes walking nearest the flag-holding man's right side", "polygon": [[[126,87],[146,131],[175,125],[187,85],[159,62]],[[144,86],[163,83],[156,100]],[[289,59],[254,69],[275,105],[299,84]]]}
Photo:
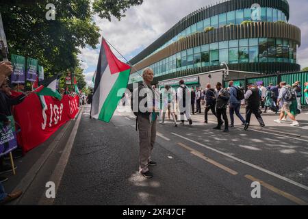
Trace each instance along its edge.
{"label": "person in light clothes walking nearest the flag-holding man's right side", "polygon": [[[175,127],[177,127],[177,120],[175,118],[175,94],[170,89],[170,86],[166,85],[164,94],[162,95],[164,109],[162,112],[162,121],[160,123],[165,123],[166,110],[171,114]],[[169,116],[170,118],[170,116]]]}

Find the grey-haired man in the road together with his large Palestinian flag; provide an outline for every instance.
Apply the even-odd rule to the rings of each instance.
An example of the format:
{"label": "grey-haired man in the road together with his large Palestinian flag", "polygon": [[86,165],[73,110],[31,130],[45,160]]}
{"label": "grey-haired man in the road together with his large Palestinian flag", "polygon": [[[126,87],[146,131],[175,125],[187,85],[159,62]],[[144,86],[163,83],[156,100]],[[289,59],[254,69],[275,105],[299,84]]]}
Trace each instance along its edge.
{"label": "grey-haired man in the road together with his large Palestinian flag", "polygon": [[[95,75],[90,117],[110,123],[118,102],[122,98],[123,92],[119,91],[127,88],[130,72],[131,66],[120,62],[110,50],[107,41],[103,38]],[[154,78],[153,70],[146,68],[142,76],[144,83],[136,90],[141,91],[145,88],[145,91],[143,90],[146,94],[144,98],[148,100],[149,104],[139,109],[138,106],[141,99],[139,98],[140,92],[138,92],[137,97],[133,99],[133,101],[137,102],[138,108],[133,111],[138,116],[139,123],[139,170],[144,177],[152,178],[153,174],[149,171],[148,166],[156,166],[156,163],[151,161],[151,151],[155,143],[156,120],[158,117],[154,109],[155,92],[151,88],[151,82]]]}

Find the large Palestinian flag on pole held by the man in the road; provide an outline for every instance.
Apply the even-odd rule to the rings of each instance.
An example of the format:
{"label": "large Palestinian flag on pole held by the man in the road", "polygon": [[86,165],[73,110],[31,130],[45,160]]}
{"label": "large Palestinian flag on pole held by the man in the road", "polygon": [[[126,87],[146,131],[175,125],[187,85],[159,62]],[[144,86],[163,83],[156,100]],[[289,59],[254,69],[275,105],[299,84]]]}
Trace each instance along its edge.
{"label": "large Palestinian flag on pole held by the man in the road", "polygon": [[120,62],[103,38],[95,77],[91,116],[110,123],[112,115],[127,88],[131,66]]}

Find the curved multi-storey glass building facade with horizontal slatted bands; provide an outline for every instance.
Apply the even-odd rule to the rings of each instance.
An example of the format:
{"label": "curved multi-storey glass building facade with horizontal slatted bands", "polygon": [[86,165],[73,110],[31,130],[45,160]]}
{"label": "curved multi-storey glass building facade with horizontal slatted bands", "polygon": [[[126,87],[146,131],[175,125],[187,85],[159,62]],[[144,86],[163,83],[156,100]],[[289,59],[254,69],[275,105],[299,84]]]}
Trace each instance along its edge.
{"label": "curved multi-storey glass building facade with horizontal slatted bands", "polygon": [[[249,0],[238,1],[246,1],[246,5],[249,7],[251,6],[247,4]],[[227,1],[214,5],[211,8],[207,8],[208,13],[206,11],[203,12],[203,10],[198,10],[198,12],[195,13],[198,18],[192,16],[192,19],[189,20],[190,17],[188,16],[188,18],[185,18],[185,21],[180,21],[181,29],[183,30],[173,27],[176,31],[172,29],[172,34],[168,32],[164,34],[168,37],[164,38],[165,42],[160,42],[161,46],[155,48],[154,42],[151,48],[145,49],[143,53],[140,53],[140,55],[137,55],[137,57],[132,60],[131,63],[139,70],[139,73],[132,73],[129,83],[141,81],[142,78],[139,74],[146,67],[150,67],[154,70],[155,77],[164,79],[169,79],[168,75],[175,72],[183,73],[179,76],[185,76],[188,70],[189,73],[192,74],[194,69],[210,70],[211,67],[215,68],[215,66],[217,68],[220,66],[221,62],[226,62],[230,65],[231,69],[232,66],[235,66],[238,68],[236,70],[242,70],[239,69],[240,67],[238,66],[259,63],[264,63],[263,66],[265,64],[277,64],[277,66],[290,65],[294,66],[290,68],[298,70],[296,69],[298,68],[296,64],[296,51],[300,46],[300,40],[291,37],[291,34],[293,34],[291,32],[294,31],[293,29],[290,30],[290,37],[288,37],[287,34],[285,34],[287,37],[281,37],[283,34],[279,35],[278,32],[280,30],[277,30],[277,27],[285,28],[289,25],[287,23],[289,18],[289,5],[287,1],[281,1],[281,3],[285,3],[285,7],[281,7],[283,4],[280,4],[280,7],[279,4],[277,4],[278,6],[275,8],[273,7],[275,5],[266,5],[264,3],[261,5],[261,8],[242,7],[238,10],[222,13],[218,12],[216,14],[211,12],[211,10],[215,12],[226,10],[228,5],[233,6],[232,3],[235,2],[237,1]],[[259,3],[261,3],[261,1]],[[277,3],[279,3],[278,0]],[[245,5],[242,4],[242,6]],[[205,18],[202,18],[202,16]],[[248,25],[246,23],[248,23]],[[257,28],[255,27],[256,24]],[[262,24],[266,24],[267,29],[264,29]],[[275,28],[271,27],[271,24],[275,24]],[[215,31],[209,31],[208,27],[211,27],[211,29]],[[237,31],[235,31],[235,27]],[[295,31],[297,31],[296,28],[294,26]],[[227,32],[227,35],[225,32]],[[247,34],[244,35],[242,32]],[[229,39],[216,40],[217,37],[215,34],[222,36],[219,38]],[[235,34],[238,36],[234,37]],[[268,37],[264,37],[266,34],[268,34]],[[211,35],[213,35],[213,37]],[[263,36],[257,38],[253,35]],[[176,53],[167,54],[170,53],[172,45],[183,44],[182,41],[185,40],[191,41],[193,37],[197,39],[196,42],[183,42],[185,47],[188,48],[180,49],[180,51],[176,51],[179,49],[174,49]],[[214,42],[200,43],[200,41]],[[190,45],[187,46],[187,44]],[[196,46],[195,44],[198,45]],[[166,51],[166,54],[164,51]],[[158,60],[157,56],[160,57]],[[151,60],[150,64],[149,60]],[[281,71],[281,69],[277,70]]]}

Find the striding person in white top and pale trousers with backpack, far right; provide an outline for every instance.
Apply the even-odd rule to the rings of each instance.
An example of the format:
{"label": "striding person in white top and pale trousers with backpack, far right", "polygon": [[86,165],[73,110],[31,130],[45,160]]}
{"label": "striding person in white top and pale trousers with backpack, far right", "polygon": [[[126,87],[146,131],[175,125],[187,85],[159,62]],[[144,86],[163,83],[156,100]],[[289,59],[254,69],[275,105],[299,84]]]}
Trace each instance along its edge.
{"label": "striding person in white top and pale trousers with backpack, far right", "polygon": [[[290,112],[290,106],[292,101],[296,100],[296,93],[294,90],[291,90],[287,87],[287,83],[285,81],[280,83],[281,89],[278,96],[278,103],[282,103],[281,113],[279,119],[274,120],[275,123],[281,123],[281,120],[285,116],[285,113],[289,118],[293,121],[292,126],[299,126],[298,121],[296,121],[294,115]],[[290,87],[290,86],[289,86]]]}

